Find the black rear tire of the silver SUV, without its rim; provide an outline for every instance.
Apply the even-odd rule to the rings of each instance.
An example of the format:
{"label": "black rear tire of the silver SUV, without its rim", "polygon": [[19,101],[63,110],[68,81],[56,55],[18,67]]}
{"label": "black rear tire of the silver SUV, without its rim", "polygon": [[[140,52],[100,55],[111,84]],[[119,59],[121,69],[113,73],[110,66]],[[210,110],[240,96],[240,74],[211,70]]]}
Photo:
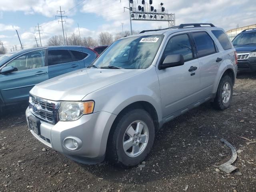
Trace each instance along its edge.
{"label": "black rear tire of the silver SUV, without its rim", "polygon": [[[230,98],[229,98],[228,102],[224,103],[222,100],[222,88],[223,88],[224,84],[226,84],[226,83],[230,84],[231,93],[230,93]],[[232,96],[233,96],[233,86],[234,86],[234,84],[233,84],[233,81],[230,78],[230,76],[225,75],[221,78],[220,83],[218,85],[217,92],[216,92],[216,96],[214,98],[214,101],[212,102],[212,106],[215,109],[225,110],[226,108],[228,108],[230,106],[231,101],[232,101]]]}

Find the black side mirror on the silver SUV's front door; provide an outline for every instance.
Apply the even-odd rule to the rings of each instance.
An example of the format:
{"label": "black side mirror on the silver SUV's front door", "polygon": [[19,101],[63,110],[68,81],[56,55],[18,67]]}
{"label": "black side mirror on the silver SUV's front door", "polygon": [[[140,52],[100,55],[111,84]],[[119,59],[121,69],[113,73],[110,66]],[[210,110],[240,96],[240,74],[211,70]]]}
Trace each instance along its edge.
{"label": "black side mirror on the silver SUV's front door", "polygon": [[181,54],[170,54],[164,58],[164,61],[160,63],[159,69],[165,69],[169,67],[176,67],[184,65],[184,58]]}

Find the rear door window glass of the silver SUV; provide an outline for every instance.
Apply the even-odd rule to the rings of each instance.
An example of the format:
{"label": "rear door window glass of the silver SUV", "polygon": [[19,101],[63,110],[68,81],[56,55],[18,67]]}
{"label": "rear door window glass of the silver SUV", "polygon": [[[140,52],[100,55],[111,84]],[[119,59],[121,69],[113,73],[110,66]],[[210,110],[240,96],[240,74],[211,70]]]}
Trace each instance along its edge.
{"label": "rear door window glass of the silver SUV", "polygon": [[194,32],[192,33],[192,36],[196,43],[198,57],[203,57],[216,52],[214,42],[208,33]]}

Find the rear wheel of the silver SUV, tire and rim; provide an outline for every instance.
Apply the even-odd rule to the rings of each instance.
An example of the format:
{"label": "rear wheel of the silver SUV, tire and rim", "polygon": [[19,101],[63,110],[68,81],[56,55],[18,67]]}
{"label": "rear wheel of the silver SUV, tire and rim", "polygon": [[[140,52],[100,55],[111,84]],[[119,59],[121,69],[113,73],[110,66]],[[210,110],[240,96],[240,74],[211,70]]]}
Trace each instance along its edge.
{"label": "rear wheel of the silver SUV, tire and rim", "polygon": [[230,76],[223,76],[220,80],[214,102],[212,106],[218,110],[224,110],[228,108],[232,101],[233,95],[233,81]]}

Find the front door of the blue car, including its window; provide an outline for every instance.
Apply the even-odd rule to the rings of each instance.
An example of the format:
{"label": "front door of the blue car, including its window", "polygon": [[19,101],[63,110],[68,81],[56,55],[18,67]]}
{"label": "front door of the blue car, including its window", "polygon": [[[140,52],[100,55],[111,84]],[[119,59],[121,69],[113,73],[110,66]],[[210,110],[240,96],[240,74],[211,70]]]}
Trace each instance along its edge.
{"label": "front door of the blue car, including its window", "polygon": [[15,72],[0,74],[0,92],[6,104],[28,101],[34,85],[48,79],[45,62],[46,49],[27,52],[5,66],[14,66]]}

